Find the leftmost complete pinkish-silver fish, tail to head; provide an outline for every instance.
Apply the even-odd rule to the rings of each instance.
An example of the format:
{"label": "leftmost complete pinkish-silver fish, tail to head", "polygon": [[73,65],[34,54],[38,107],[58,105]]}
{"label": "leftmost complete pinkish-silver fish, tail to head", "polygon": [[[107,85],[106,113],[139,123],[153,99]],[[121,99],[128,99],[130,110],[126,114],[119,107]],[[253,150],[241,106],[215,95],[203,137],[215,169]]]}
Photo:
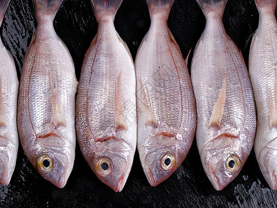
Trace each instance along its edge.
{"label": "leftmost complete pinkish-silver fish, tail to head", "polygon": [[75,92],[78,81],[53,19],[62,0],[35,0],[37,30],[25,56],[18,100],[24,153],[40,175],[65,186],[75,159]]}

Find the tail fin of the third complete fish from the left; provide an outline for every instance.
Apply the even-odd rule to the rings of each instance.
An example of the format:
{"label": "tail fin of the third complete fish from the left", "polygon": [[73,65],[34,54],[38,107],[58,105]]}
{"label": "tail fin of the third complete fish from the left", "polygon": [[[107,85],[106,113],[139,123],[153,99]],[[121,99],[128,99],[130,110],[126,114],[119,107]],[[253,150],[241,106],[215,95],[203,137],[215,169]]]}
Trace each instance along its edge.
{"label": "tail fin of the third complete fish from the left", "polygon": [[170,9],[175,0],[146,0],[148,4],[150,17],[156,13],[165,12],[165,17],[168,19]]}

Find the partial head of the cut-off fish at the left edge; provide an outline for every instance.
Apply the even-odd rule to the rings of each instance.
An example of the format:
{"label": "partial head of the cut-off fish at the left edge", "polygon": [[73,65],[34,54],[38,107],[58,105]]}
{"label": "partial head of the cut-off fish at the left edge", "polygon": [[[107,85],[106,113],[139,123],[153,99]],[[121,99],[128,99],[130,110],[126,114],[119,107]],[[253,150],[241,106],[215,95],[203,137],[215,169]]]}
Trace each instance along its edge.
{"label": "partial head of the cut-off fish at the left edge", "polygon": [[0,137],[0,184],[7,186],[15,170],[17,146],[5,137]]}

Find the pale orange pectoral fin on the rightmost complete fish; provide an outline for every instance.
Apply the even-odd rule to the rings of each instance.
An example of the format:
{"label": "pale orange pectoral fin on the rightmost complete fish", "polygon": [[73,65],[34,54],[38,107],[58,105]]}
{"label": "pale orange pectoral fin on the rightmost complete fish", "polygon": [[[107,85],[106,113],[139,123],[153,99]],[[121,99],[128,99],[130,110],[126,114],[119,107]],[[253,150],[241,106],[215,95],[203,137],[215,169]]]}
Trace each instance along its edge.
{"label": "pale orange pectoral fin on the rightmost complete fish", "polygon": [[221,125],[220,123],[224,112],[224,104],[226,99],[226,87],[227,87],[227,76],[225,74],[222,88],[220,89],[220,94],[217,98],[217,102],[213,107],[213,112],[211,114],[210,124],[208,125],[208,128],[212,126],[220,128],[220,125]]}

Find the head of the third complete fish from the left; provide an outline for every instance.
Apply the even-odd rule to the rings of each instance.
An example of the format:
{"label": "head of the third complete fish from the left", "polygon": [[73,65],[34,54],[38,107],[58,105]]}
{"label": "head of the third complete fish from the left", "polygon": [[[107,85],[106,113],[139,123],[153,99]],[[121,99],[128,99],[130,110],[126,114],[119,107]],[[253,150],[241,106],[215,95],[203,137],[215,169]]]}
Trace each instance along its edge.
{"label": "head of the third complete fish from the left", "polygon": [[159,132],[146,139],[139,148],[143,171],[153,187],[177,170],[190,149],[191,144],[184,144],[185,139],[177,137],[179,135]]}

